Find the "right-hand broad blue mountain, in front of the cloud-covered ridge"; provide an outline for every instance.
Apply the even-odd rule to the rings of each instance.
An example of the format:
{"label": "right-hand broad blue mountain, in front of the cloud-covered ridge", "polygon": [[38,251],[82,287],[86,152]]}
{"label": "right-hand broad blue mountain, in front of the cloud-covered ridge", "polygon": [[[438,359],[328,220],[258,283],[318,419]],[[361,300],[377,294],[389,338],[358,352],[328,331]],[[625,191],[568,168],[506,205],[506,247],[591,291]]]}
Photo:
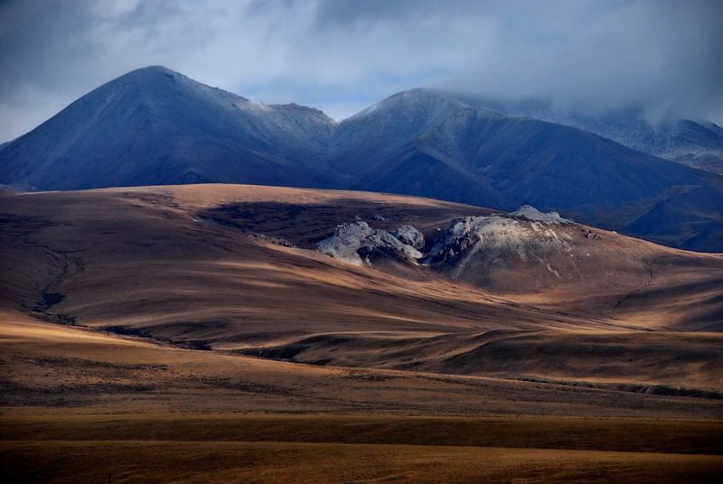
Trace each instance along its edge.
{"label": "right-hand broad blue mountain, in front of the cloud-covered ridge", "polygon": [[[437,98],[437,103],[430,99]],[[444,102],[441,102],[441,101]],[[428,106],[440,106],[438,117]],[[432,118],[408,143],[391,136],[399,113]],[[723,250],[723,178],[634,151],[569,126],[504,116],[424,90],[392,96],[343,121],[357,129],[350,188],[454,200],[495,209],[529,203],[568,218],[673,247]],[[375,133],[376,152],[363,147]],[[334,132],[336,133],[336,131]],[[387,140],[393,140],[393,143]],[[353,150],[350,150],[353,151]],[[376,156],[380,153],[380,156]]]}

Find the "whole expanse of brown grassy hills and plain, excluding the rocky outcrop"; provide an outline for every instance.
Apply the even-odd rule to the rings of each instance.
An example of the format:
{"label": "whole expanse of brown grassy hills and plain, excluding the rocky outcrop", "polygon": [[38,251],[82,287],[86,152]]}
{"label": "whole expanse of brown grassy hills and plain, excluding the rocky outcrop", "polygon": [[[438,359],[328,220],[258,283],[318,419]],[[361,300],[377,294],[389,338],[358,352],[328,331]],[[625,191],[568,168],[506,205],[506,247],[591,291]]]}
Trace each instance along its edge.
{"label": "whole expanse of brown grassy hills and plain, excluding the rocky outcrop", "polygon": [[634,254],[604,290],[502,293],[309,250],[356,215],[427,235],[491,213],[435,200],[205,185],[0,212],[10,481],[723,475],[719,255],[597,230]]}

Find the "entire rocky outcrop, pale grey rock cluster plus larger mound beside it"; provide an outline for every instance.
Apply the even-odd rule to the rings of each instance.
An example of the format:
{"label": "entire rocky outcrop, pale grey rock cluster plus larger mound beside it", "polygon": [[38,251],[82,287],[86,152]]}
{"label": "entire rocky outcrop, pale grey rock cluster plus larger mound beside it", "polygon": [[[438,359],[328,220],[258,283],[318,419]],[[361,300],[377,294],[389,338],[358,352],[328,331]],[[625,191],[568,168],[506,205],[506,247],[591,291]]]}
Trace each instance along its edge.
{"label": "entire rocky outcrop, pale grey rock cluster plus larger mound beside it", "polygon": [[396,270],[420,263],[427,274],[453,281],[502,293],[534,293],[584,283],[620,264],[638,264],[612,260],[607,239],[558,213],[524,205],[509,214],[454,219],[448,228],[427,234],[427,242],[409,225],[387,232],[358,220],[338,226],[318,249],[355,265]]}

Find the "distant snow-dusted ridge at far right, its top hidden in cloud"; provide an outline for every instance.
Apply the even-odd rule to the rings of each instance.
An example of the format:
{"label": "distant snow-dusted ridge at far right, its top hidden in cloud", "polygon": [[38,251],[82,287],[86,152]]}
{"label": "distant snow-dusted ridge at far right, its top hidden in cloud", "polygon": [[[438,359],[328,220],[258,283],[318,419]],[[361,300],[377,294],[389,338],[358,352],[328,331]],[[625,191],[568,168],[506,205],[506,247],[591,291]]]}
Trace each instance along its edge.
{"label": "distant snow-dusted ridge at far right, its top hidden in cloud", "polygon": [[524,116],[577,127],[634,150],[672,162],[723,174],[723,128],[708,121],[670,118],[651,123],[642,107],[624,107],[604,114],[556,109],[549,100],[497,102],[454,93],[440,93],[466,105],[491,109],[506,116]]}

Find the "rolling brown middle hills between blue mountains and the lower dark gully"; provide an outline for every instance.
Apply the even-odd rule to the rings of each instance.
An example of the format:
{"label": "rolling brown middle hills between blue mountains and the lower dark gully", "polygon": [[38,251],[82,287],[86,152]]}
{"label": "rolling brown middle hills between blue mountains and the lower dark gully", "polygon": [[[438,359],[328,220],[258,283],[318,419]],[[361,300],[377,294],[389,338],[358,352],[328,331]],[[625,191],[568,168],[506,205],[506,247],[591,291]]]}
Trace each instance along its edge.
{"label": "rolling brown middle hills between blue mountains and the lower dark gully", "polygon": [[[370,266],[314,250],[357,217],[433,240],[472,216],[568,247],[531,238],[521,258],[501,236],[496,252]],[[671,332],[720,328],[718,255],[436,200],[248,185],[16,194],[2,221],[0,301],[45,321],[315,365],[721,386],[718,335]],[[588,253],[584,274],[565,263]]]}

